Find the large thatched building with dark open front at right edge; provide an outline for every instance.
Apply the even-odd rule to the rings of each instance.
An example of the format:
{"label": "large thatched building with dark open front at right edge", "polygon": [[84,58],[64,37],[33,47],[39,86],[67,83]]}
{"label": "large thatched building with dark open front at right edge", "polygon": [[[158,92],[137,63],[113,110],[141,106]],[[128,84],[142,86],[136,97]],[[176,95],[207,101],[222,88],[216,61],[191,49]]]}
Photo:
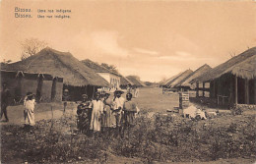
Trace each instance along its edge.
{"label": "large thatched building with dark open front at right edge", "polygon": [[256,104],[256,47],[229,59],[195,81],[210,82],[219,105]]}

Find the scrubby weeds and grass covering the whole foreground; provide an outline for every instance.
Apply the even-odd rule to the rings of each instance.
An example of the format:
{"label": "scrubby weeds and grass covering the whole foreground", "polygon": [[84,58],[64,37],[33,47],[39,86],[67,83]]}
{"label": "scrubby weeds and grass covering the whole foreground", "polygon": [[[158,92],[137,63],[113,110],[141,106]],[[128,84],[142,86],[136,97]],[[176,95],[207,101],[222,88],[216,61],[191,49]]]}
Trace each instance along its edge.
{"label": "scrubby weeds and grass covering the whole foreground", "polygon": [[[226,121],[226,117],[230,117]],[[97,161],[110,155],[139,158],[143,162],[211,161],[256,154],[256,117],[223,114],[215,119],[191,121],[180,116],[142,114],[124,137],[87,137],[76,130],[76,118],[40,121],[32,131],[2,127],[2,162],[29,163]],[[5,153],[3,153],[5,152]]]}

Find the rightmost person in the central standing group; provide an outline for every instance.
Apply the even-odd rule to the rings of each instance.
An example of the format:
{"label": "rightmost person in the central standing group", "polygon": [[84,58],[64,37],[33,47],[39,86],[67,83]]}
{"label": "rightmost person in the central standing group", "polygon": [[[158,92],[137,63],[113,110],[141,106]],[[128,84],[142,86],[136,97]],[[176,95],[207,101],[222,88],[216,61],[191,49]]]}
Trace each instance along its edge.
{"label": "rightmost person in the central standing group", "polygon": [[139,112],[139,108],[137,107],[137,104],[132,101],[132,94],[127,93],[126,94],[126,101],[124,102],[124,130],[128,131],[130,128],[132,128],[135,124],[135,114]]}

